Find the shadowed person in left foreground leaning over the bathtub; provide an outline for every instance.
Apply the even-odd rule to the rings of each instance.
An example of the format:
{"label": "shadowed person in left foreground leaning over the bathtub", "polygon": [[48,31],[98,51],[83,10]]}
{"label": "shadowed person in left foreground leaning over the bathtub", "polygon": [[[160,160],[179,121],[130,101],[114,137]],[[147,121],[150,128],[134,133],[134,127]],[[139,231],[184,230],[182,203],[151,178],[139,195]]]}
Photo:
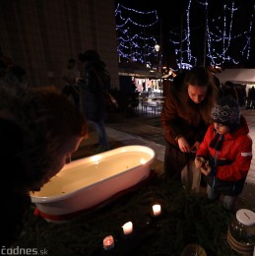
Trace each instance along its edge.
{"label": "shadowed person in left foreground leaning over the bathtub", "polygon": [[0,248],[7,248],[23,234],[30,192],[39,190],[78,150],[87,123],[51,87],[29,89],[0,81],[0,98]]}

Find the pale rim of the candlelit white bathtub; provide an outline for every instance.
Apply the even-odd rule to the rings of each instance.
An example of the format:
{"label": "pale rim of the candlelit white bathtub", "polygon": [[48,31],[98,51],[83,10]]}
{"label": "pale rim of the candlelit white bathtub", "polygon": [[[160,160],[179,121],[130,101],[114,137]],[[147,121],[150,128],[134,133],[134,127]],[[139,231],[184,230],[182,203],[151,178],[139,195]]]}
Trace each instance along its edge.
{"label": "pale rim of the candlelit white bathtub", "polygon": [[[94,156],[90,156],[90,157],[86,157],[86,158],[83,158],[83,159],[80,159],[80,160],[74,160],[72,161],[71,163],[69,164],[72,164],[72,166],[70,167],[69,164],[66,164],[62,169],[61,171],[65,171],[66,169],[68,168],[73,168],[75,166],[79,166],[82,164],[83,161],[86,161],[88,159],[91,159],[92,157],[95,157],[95,156],[98,156],[98,155],[103,155],[103,156],[107,156],[107,155],[110,155],[110,153],[112,153],[113,151],[120,151],[120,150],[124,150],[124,149],[128,149],[129,152],[132,152],[132,148],[141,148],[141,149],[146,149],[147,151],[151,152],[151,154],[149,153],[149,155],[151,156],[151,159],[148,160],[146,163],[143,163],[141,165],[143,165],[145,168],[150,166],[155,160],[156,160],[156,152],[154,149],[148,147],[148,146],[143,146],[143,145],[128,145],[128,146],[123,146],[123,147],[119,147],[119,148],[116,148],[116,149],[113,149],[113,150],[110,150],[110,151],[107,151],[107,152],[103,152],[103,153],[100,153],[100,154],[96,154]],[[128,151],[127,151],[128,152]],[[143,152],[143,151],[142,151]],[[138,165],[140,166],[140,165]],[[86,187],[82,187],[82,188],[79,188],[75,191],[70,191],[70,192],[67,192],[67,193],[64,193],[64,194],[60,194],[60,195],[56,195],[56,196],[51,196],[51,197],[39,197],[39,196],[33,196],[32,195],[32,192],[30,193],[30,196],[31,196],[31,200],[32,200],[32,203],[34,204],[44,204],[44,203],[53,203],[53,202],[56,202],[56,201],[61,201],[61,200],[65,200],[65,199],[68,199],[72,196],[75,196],[76,194],[80,193],[80,191],[82,191],[83,189],[90,189],[91,187],[93,186],[96,186],[97,184],[103,182],[103,181],[107,181],[108,179],[111,179],[113,177],[117,177],[119,175],[123,175],[125,174],[126,172],[129,172],[129,171],[133,171],[134,169],[138,168],[138,166],[134,166],[132,168],[129,168],[129,169],[126,169],[122,172],[119,172],[119,173],[116,173],[115,175],[113,176],[109,176],[107,178],[104,178],[104,179],[100,179],[98,181],[96,181],[95,183],[89,185],[89,186],[86,186]],[[150,172],[151,170],[149,170],[148,172],[148,176],[150,176]],[[146,178],[144,178],[146,179]],[[137,183],[140,183],[141,181],[143,181],[144,179],[142,180],[139,180]],[[50,180],[48,181],[50,182]]]}

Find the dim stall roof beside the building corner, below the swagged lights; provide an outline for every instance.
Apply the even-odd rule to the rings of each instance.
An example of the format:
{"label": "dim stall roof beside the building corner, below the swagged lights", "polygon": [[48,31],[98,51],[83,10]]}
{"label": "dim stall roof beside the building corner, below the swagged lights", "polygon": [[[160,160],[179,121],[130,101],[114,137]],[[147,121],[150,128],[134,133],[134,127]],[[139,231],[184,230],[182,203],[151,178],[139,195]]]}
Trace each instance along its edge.
{"label": "dim stall roof beside the building corner, below the swagged lights", "polygon": [[161,78],[161,73],[136,62],[119,63],[119,76]]}

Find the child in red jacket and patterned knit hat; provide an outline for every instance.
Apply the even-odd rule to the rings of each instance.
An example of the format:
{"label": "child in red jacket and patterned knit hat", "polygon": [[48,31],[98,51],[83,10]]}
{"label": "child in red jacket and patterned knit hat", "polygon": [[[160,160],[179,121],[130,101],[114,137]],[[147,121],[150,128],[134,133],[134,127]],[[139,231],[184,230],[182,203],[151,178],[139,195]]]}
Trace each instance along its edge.
{"label": "child in red jacket and patterned knit hat", "polygon": [[207,180],[212,200],[223,195],[223,207],[234,212],[252,159],[252,140],[238,102],[221,98],[212,109],[212,120],[195,159]]}

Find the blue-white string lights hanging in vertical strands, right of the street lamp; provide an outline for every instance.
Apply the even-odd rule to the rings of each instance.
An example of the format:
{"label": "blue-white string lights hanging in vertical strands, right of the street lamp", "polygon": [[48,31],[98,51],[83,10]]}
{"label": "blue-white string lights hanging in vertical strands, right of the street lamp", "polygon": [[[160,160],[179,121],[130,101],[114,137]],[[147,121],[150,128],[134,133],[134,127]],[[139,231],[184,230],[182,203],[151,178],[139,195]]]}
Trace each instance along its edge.
{"label": "blue-white string lights hanging in vertical strands, right of the street lamp", "polygon": [[[207,13],[209,9],[207,0],[189,0],[186,9],[186,26],[185,29],[182,30],[182,36],[175,32],[169,33],[169,42],[176,47],[176,62],[179,67],[181,67],[182,63],[189,63],[190,67],[197,63],[197,57],[194,56],[191,51],[191,43],[194,42],[191,41],[190,36],[190,12],[191,6],[194,8],[195,4],[202,6],[205,10],[205,14]],[[219,10],[220,7],[221,6],[219,6]],[[239,14],[240,10],[241,8],[237,8],[233,0],[230,5],[223,4],[223,15],[220,15],[211,21],[209,21],[208,16],[206,16],[206,58],[209,65],[222,65],[223,63],[237,65],[240,62],[240,59],[249,59],[251,46],[250,36],[255,5],[252,7],[252,14],[250,21],[247,23],[247,28],[243,27],[242,32],[236,33],[236,30],[235,32],[233,31],[233,22],[235,14]],[[182,39],[178,40],[180,37],[182,37]],[[239,49],[233,50],[237,40],[239,42]],[[237,52],[240,52],[240,56]],[[181,57],[179,57],[180,55]],[[187,67],[186,64],[184,66]]]}

